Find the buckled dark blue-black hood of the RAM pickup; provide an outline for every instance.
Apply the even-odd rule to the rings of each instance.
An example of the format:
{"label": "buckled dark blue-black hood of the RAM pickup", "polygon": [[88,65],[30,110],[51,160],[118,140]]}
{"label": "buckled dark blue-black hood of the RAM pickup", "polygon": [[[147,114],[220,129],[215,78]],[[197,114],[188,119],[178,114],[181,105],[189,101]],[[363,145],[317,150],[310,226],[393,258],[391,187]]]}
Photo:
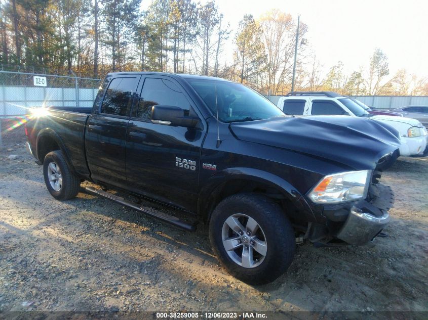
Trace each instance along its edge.
{"label": "buckled dark blue-black hood of the RAM pickup", "polygon": [[233,122],[230,129],[243,141],[322,157],[356,170],[374,169],[401,144],[388,126],[349,116],[273,117]]}

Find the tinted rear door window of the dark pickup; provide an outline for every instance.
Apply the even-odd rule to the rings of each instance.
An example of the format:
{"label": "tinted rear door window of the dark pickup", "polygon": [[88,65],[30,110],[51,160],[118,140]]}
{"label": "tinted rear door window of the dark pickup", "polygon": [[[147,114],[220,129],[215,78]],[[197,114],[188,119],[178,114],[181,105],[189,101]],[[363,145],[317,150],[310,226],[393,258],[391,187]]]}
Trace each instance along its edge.
{"label": "tinted rear door window of the dark pickup", "polygon": [[101,113],[128,116],[134,97],[135,78],[113,78],[101,104]]}

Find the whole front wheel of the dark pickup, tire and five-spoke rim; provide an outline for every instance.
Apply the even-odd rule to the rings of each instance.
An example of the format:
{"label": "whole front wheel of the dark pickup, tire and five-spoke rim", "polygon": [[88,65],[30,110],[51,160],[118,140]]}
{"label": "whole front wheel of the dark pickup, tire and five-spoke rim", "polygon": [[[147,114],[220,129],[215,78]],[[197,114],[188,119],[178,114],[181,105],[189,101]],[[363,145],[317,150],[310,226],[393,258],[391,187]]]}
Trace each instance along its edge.
{"label": "whole front wheel of the dark pickup, tire and five-spoke rim", "polygon": [[293,260],[296,244],[291,223],[275,202],[262,195],[224,199],[212,214],[209,230],[220,263],[245,283],[272,282]]}

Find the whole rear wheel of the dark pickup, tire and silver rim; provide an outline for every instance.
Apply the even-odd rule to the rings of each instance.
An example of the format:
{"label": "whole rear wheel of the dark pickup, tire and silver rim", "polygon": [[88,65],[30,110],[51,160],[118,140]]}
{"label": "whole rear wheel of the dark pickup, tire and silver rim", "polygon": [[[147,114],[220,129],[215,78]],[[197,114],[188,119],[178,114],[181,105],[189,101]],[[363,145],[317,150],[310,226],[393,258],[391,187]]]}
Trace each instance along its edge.
{"label": "whole rear wheel of the dark pickup, tire and silver rim", "polygon": [[43,162],[43,175],[49,193],[57,200],[74,198],[81,180],[69,168],[61,151],[49,152]]}

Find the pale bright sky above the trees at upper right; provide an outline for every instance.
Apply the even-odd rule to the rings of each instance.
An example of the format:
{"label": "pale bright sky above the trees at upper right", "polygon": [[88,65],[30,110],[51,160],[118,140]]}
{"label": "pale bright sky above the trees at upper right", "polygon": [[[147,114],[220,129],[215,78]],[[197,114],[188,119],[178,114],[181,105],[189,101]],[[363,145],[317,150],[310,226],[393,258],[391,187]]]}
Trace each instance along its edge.
{"label": "pale bright sky above the trees at upper right", "polygon": [[[202,0],[201,2],[206,2]],[[150,3],[144,2],[143,8]],[[325,71],[343,62],[345,72],[367,65],[377,47],[387,55],[390,72],[405,68],[428,76],[428,0],[216,0],[234,37],[244,14],[257,19],[278,8],[307,24],[310,49]],[[231,42],[231,41],[230,41]],[[231,43],[225,49],[231,50]]]}

